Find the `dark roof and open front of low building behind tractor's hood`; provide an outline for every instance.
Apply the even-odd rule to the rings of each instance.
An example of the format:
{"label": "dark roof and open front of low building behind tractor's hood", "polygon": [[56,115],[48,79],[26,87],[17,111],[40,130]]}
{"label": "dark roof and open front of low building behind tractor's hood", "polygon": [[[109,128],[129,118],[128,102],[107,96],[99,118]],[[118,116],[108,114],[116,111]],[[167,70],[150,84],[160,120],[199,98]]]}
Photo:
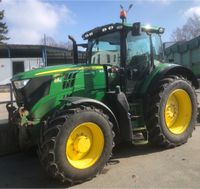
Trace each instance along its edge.
{"label": "dark roof and open front of low building behind tractor's hood", "polygon": [[[78,51],[79,62],[86,60],[86,53]],[[61,47],[45,45],[0,44],[0,58],[42,58],[45,65],[73,62],[73,52]]]}

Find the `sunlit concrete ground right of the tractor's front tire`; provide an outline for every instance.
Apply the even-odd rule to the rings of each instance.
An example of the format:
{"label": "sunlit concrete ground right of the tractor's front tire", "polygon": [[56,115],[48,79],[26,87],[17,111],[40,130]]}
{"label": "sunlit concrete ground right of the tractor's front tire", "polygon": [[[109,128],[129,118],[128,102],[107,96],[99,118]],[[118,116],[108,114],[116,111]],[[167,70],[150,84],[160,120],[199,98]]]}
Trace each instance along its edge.
{"label": "sunlit concrete ground right of the tractor's front tire", "polygon": [[125,146],[115,154],[117,165],[74,188],[195,188],[200,187],[200,128],[186,145],[159,151],[150,146]]}

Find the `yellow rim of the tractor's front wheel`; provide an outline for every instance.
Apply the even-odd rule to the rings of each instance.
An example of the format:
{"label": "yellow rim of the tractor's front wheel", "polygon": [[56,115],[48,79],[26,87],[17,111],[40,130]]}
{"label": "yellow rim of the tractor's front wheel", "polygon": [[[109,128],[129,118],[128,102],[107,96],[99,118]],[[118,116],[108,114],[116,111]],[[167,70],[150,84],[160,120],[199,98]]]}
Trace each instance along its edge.
{"label": "yellow rim of the tractor's front wheel", "polygon": [[100,158],[104,135],[98,125],[85,122],[78,125],[66,141],[66,157],[77,169],[86,169]]}

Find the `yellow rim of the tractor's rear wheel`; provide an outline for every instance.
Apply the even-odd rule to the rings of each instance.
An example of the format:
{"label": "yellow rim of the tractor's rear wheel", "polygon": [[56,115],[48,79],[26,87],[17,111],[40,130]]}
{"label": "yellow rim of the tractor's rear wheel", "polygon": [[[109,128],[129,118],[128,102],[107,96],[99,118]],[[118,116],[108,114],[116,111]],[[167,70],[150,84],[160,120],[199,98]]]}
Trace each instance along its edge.
{"label": "yellow rim of the tractor's rear wheel", "polygon": [[174,90],[165,106],[165,123],[173,134],[182,134],[189,126],[192,117],[190,96],[183,89]]}

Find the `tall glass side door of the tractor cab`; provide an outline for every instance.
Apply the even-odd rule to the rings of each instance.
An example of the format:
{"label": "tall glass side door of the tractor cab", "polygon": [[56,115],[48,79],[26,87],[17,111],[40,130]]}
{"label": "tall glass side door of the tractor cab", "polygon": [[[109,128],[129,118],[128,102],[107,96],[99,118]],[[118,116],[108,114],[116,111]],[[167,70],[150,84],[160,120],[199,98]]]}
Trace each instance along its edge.
{"label": "tall glass side door of the tractor cab", "polygon": [[150,39],[146,33],[133,36],[127,34],[127,59],[126,59],[126,94],[136,93],[136,87],[148,74],[151,66]]}

